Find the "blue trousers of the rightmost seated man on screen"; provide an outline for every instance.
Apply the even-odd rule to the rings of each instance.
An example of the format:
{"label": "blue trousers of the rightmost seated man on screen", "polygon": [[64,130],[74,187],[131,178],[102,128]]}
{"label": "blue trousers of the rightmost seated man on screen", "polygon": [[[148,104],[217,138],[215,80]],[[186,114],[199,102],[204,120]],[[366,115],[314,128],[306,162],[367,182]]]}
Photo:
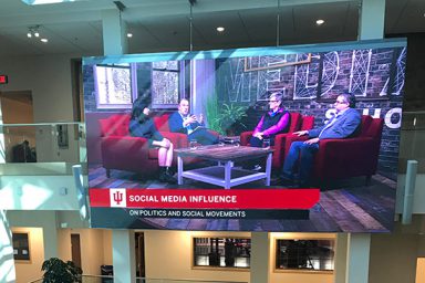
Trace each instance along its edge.
{"label": "blue trousers of the rightmost seated man on screen", "polygon": [[289,148],[288,156],[284,158],[283,177],[293,179],[296,165],[299,163],[299,179],[300,181],[308,181],[313,169],[314,155],[319,150],[319,144],[308,145],[304,142],[294,142]]}

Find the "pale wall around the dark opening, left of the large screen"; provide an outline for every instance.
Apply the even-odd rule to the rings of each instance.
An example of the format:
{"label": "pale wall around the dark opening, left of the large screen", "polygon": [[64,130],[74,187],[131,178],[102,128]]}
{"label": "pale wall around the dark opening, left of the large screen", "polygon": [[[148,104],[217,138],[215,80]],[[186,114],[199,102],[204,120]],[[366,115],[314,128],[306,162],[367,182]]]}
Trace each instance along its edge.
{"label": "pale wall around the dark opening, left of the large screen", "polygon": [[[34,123],[73,122],[72,57],[70,54],[0,57],[1,71],[9,76],[2,91],[31,91]],[[70,148],[59,149],[54,130],[40,128],[37,132],[39,161],[79,160],[77,145],[72,143],[76,135],[73,130],[69,134]]]}

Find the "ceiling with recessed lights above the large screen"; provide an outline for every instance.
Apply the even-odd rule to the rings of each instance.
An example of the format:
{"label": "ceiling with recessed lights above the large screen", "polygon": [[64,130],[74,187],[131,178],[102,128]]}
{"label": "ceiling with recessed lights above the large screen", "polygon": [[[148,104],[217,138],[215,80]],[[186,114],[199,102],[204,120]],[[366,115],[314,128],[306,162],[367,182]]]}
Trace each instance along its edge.
{"label": "ceiling with recessed lights above the large screen", "polygon": [[[128,53],[188,50],[188,0],[121,0],[122,19],[134,34]],[[197,0],[193,7],[194,50],[266,46],[355,40],[361,1],[344,0]],[[0,56],[74,53],[102,55],[102,13],[113,0],[27,6],[1,0]],[[425,32],[425,0],[386,0],[385,34]],[[317,19],[324,19],[322,27]],[[40,24],[44,44],[28,39]],[[226,28],[219,34],[216,28]]]}

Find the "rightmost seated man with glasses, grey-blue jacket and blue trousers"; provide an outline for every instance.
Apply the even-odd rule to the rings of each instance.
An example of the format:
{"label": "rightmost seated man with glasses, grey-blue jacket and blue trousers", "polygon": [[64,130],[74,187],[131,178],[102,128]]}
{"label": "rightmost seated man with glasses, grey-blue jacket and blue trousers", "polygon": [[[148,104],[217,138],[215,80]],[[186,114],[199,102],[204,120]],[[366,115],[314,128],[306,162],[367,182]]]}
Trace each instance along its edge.
{"label": "rightmost seated man with glasses, grey-blue jacket and blue trousers", "polygon": [[[336,109],[335,116],[328,124],[310,130],[300,130],[293,135],[308,135],[305,142],[294,142],[291,144],[288,156],[284,159],[282,170],[282,185],[293,185],[296,181],[301,187],[308,186],[313,168],[314,154],[319,150],[319,142],[330,138],[346,138],[355,136],[360,130],[361,115],[354,109],[355,96],[341,94],[333,104]],[[296,165],[298,166],[298,177],[296,176]]]}

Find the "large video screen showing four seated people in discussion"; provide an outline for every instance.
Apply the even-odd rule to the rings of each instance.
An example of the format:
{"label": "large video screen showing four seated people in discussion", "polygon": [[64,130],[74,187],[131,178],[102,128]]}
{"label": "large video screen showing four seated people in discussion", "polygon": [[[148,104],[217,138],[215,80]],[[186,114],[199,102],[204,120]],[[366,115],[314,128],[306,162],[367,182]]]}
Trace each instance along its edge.
{"label": "large video screen showing four seated people in discussion", "polygon": [[390,232],[406,41],[83,60],[91,226]]}

